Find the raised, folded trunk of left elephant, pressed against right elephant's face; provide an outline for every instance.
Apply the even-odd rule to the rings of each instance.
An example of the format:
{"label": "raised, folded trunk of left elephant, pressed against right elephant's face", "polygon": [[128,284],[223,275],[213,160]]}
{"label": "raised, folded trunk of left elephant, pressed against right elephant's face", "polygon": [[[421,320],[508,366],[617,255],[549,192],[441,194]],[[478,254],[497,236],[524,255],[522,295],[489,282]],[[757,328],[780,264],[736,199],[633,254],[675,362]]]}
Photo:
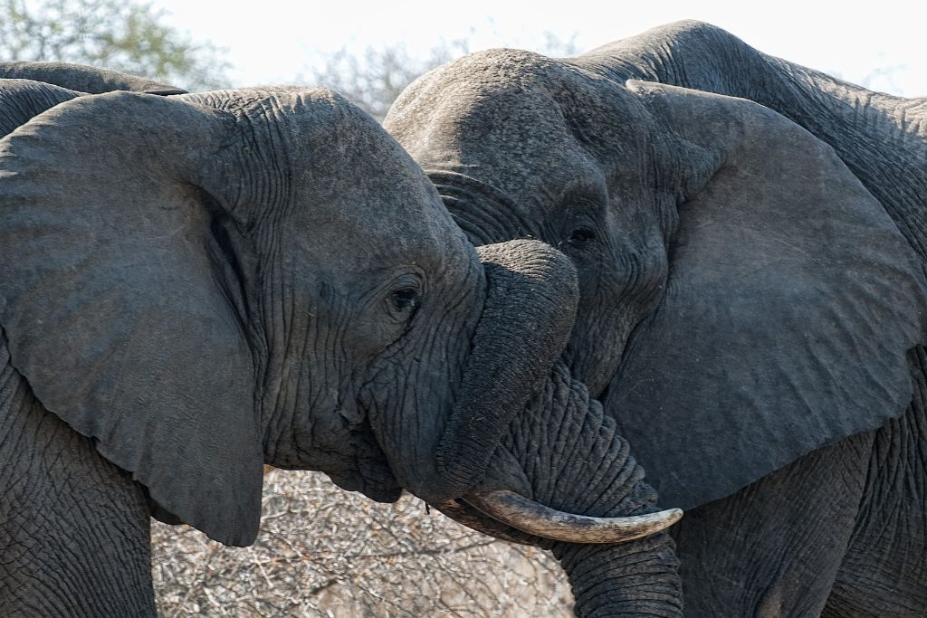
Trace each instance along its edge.
{"label": "raised, folded trunk of left elephant, pressed against right elephant's face", "polygon": [[464,495],[483,478],[512,418],[563,351],[578,303],[576,270],[550,246],[512,241],[477,253],[486,301],[436,453],[446,498]]}

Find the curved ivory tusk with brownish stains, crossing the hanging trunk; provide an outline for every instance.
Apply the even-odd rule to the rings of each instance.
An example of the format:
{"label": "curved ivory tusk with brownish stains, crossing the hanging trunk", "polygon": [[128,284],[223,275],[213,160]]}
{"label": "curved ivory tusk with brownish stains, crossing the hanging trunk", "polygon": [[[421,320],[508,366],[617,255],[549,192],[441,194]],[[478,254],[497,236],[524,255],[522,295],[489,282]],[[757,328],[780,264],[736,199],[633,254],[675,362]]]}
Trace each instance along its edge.
{"label": "curved ivory tusk with brownish stains, crossing the hanging trunk", "polygon": [[[471,509],[464,508],[462,502]],[[627,517],[579,515],[557,511],[508,490],[468,494],[459,500],[448,500],[434,506],[438,511],[479,532],[515,542],[524,542],[524,539],[513,536],[505,527],[493,523],[502,523],[529,536],[564,543],[615,544],[653,536],[679,522],[682,517],[681,509]],[[489,517],[492,523],[487,523],[474,510]]]}

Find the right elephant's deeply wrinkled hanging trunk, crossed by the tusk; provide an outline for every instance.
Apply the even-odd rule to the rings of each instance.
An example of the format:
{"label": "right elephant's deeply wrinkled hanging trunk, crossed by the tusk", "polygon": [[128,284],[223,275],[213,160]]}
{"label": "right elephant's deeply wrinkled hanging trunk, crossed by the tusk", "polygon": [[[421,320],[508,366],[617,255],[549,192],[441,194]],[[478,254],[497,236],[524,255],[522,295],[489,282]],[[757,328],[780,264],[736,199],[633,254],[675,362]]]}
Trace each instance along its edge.
{"label": "right elephant's deeply wrinkled hanging trunk, crossed by the tusk", "polygon": [[[614,419],[558,361],[510,423],[476,491],[436,506],[491,536],[551,549],[573,586],[578,616],[680,616],[679,561],[663,531],[679,512],[654,513],[656,492],[643,476]],[[620,544],[527,534],[522,523],[486,516],[482,497],[502,488],[558,511],[634,523],[634,529]],[[654,518],[660,523],[649,522]]]}

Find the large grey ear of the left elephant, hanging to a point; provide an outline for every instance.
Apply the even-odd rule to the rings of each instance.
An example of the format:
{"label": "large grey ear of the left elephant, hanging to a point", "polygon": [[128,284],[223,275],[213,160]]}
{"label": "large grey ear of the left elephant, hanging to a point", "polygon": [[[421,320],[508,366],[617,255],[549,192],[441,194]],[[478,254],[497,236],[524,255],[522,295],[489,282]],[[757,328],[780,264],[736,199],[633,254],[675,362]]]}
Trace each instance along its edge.
{"label": "large grey ear of the left elephant, hanging to a point", "polygon": [[243,241],[205,188],[222,183],[201,177],[232,170],[234,136],[225,112],[132,93],[75,98],[7,135],[0,325],[45,408],[162,509],[247,545],[263,458]]}

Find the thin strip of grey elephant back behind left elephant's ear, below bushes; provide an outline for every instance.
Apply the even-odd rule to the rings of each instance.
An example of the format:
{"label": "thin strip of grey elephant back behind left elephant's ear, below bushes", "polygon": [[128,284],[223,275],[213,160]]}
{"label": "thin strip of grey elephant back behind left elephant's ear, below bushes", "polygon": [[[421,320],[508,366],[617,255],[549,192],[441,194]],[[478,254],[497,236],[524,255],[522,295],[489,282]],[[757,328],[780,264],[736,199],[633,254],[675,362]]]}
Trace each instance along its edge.
{"label": "thin strip of grey elephant back behind left elephant's ear, below bushes", "polygon": [[96,69],[70,62],[0,62],[0,78],[53,83],[82,93],[99,95],[130,90],[149,95],[181,95],[186,91],[166,83],[115,70]]}

